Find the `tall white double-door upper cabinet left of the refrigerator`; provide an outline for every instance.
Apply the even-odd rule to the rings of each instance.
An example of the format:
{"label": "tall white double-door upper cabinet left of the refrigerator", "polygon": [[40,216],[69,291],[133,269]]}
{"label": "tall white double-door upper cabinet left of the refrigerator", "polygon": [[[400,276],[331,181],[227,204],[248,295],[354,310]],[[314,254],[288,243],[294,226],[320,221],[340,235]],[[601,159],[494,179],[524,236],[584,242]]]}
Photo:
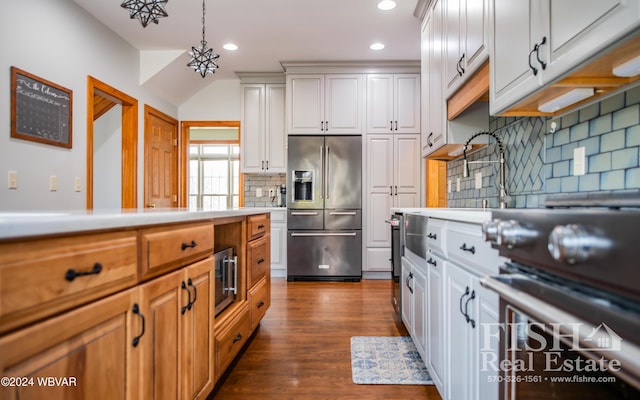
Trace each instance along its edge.
{"label": "tall white double-door upper cabinet left of the refrigerator", "polygon": [[241,172],[285,173],[285,85],[241,85]]}

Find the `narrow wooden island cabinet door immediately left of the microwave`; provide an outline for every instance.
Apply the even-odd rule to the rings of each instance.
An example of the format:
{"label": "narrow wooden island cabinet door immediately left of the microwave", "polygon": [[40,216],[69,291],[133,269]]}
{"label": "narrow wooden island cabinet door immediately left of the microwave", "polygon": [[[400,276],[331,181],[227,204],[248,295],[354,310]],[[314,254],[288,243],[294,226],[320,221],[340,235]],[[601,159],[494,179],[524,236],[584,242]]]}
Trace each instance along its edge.
{"label": "narrow wooden island cabinet door immediately left of the microwave", "polygon": [[213,389],[214,340],[213,285],[215,266],[213,257],[197,262],[185,272],[185,281],[191,291],[192,307],[181,316],[182,320],[182,373],[184,399],[204,399]]}

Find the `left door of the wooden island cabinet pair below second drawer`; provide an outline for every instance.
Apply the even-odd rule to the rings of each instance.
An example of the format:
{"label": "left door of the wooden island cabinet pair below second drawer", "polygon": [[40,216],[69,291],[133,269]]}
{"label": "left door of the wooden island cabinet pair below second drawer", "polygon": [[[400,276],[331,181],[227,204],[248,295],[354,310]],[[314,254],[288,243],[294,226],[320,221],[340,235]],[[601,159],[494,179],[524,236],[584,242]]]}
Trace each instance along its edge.
{"label": "left door of the wooden island cabinet pair below second drawer", "polygon": [[[179,399],[182,307],[188,304],[176,271],[140,286],[140,309],[146,316],[146,332],[140,351],[139,399]],[[186,285],[186,282],[185,282]]]}

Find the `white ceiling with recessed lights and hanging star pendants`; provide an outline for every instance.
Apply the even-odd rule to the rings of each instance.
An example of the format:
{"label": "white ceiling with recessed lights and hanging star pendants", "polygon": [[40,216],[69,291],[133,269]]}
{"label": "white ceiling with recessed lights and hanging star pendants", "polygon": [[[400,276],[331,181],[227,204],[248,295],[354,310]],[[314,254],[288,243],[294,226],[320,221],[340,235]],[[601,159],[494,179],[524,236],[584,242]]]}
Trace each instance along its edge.
{"label": "white ceiling with recessed lights and hanging star pendants", "polygon": [[[220,58],[204,79],[186,66],[202,40],[201,0],[169,0],[169,16],[146,28],[122,0],[73,1],[142,52],[142,86],[174,105],[236,72],[283,72],[281,62],[420,60],[418,0],[390,11],[378,0],[205,0],[205,39]],[[229,42],[238,50],[224,50]],[[385,48],[369,49],[374,42]]]}

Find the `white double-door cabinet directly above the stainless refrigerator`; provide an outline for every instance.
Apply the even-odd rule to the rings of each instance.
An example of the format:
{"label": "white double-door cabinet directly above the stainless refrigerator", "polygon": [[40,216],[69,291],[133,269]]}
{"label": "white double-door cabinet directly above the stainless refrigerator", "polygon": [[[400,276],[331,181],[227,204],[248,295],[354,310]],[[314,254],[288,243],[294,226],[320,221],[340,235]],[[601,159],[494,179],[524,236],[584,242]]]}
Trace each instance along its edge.
{"label": "white double-door cabinet directly above the stainless refrigerator", "polygon": [[364,75],[287,75],[288,134],[362,134]]}

